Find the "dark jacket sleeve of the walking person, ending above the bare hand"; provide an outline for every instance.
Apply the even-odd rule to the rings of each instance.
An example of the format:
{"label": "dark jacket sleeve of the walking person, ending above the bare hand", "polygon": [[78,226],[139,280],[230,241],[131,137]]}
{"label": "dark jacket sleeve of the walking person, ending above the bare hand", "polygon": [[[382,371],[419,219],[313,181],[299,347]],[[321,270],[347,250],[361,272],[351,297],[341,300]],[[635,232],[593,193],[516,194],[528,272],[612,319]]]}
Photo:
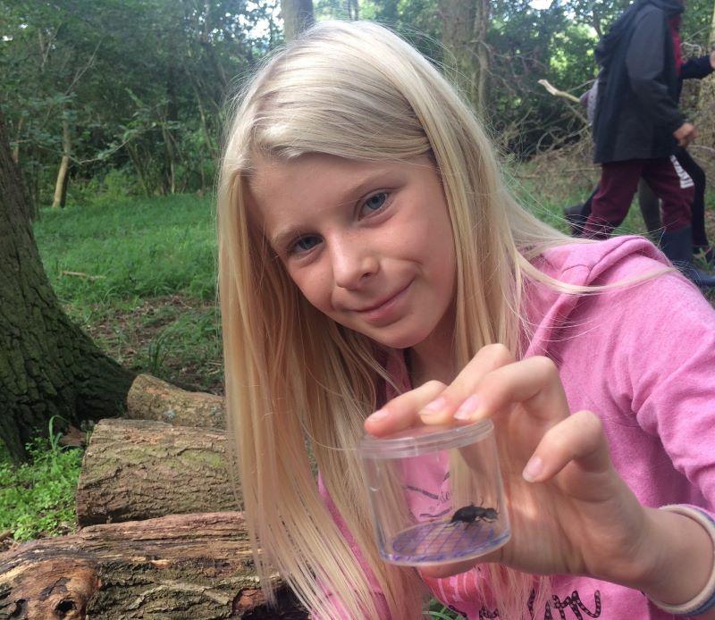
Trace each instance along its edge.
{"label": "dark jacket sleeve of the walking person, ending above the bare hand", "polygon": [[685,118],[670,95],[663,73],[665,46],[672,45],[668,24],[660,10],[644,11],[635,23],[633,37],[626,53],[626,70],[631,88],[641,102],[644,113],[656,124],[675,131]]}

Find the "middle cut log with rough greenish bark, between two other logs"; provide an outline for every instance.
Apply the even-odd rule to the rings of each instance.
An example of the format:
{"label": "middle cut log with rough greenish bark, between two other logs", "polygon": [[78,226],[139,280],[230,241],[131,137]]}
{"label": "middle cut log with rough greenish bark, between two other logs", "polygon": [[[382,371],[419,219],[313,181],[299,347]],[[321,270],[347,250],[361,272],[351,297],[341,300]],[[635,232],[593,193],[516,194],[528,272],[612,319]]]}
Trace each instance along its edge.
{"label": "middle cut log with rough greenish bark, between two other logs", "polygon": [[77,486],[80,526],[239,509],[219,429],[101,420]]}

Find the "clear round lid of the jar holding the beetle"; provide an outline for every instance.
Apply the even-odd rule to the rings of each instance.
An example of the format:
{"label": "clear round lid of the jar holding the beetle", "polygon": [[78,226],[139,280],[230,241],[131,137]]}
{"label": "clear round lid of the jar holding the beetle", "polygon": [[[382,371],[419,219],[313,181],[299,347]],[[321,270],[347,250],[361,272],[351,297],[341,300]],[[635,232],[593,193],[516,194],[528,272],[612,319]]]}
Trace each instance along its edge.
{"label": "clear round lid of the jar holding the beetle", "polygon": [[463,448],[483,440],[486,435],[492,433],[493,428],[494,423],[487,418],[465,426],[415,426],[379,438],[366,434],[360,440],[357,452],[363,458],[417,457],[429,452]]}

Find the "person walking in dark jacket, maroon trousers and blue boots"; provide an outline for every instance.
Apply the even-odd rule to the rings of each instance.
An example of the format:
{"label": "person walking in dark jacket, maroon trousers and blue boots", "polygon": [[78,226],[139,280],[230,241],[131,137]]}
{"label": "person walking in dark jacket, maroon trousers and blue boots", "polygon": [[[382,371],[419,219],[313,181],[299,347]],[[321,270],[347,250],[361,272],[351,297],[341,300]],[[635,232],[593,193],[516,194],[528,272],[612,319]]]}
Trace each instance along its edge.
{"label": "person walking in dark jacket, maroon trousers and blue boots", "polygon": [[662,200],[663,252],[700,286],[715,286],[715,278],[692,264],[693,181],[673,157],[697,135],[677,107],[682,12],[682,0],[636,0],[596,48],[601,72],[593,139],[601,181],[584,232],[608,237],[643,177]]}

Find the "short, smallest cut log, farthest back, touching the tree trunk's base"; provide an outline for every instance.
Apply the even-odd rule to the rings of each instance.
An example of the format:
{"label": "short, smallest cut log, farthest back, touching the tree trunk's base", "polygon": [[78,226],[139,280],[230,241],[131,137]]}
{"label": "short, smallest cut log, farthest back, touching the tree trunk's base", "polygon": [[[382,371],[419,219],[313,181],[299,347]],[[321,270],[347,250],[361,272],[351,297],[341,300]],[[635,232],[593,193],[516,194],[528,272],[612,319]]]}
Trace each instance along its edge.
{"label": "short, smallest cut log, farthest back, touching the tree trunk's base", "polygon": [[188,392],[150,374],[139,374],[127,395],[127,417],[179,426],[226,427],[223,398]]}

